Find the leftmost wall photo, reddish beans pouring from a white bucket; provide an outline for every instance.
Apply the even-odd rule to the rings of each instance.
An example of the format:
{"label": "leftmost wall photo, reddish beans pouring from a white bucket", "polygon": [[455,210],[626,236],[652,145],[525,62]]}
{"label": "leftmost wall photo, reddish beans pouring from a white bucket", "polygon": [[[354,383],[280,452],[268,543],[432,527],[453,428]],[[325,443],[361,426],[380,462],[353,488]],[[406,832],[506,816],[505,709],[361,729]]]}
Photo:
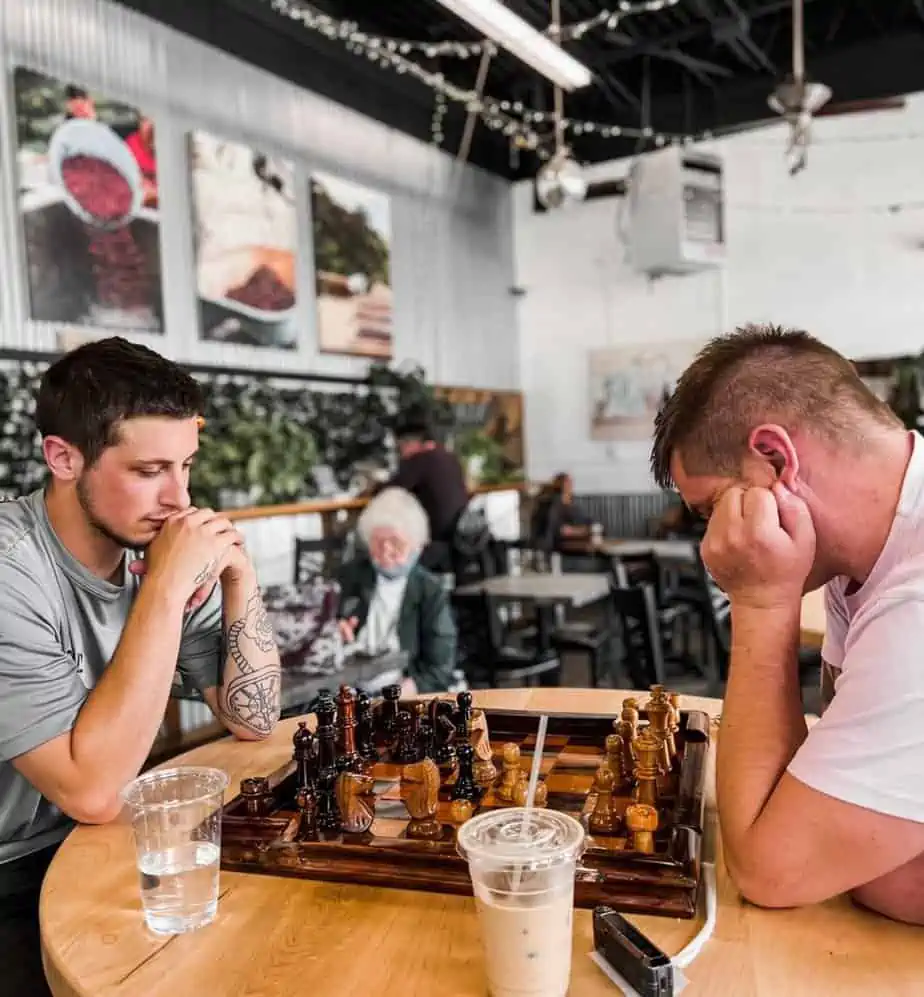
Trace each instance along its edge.
{"label": "leftmost wall photo, reddish beans pouring from a white bucket", "polygon": [[72,80],[13,82],[31,317],[163,332],[154,122]]}

